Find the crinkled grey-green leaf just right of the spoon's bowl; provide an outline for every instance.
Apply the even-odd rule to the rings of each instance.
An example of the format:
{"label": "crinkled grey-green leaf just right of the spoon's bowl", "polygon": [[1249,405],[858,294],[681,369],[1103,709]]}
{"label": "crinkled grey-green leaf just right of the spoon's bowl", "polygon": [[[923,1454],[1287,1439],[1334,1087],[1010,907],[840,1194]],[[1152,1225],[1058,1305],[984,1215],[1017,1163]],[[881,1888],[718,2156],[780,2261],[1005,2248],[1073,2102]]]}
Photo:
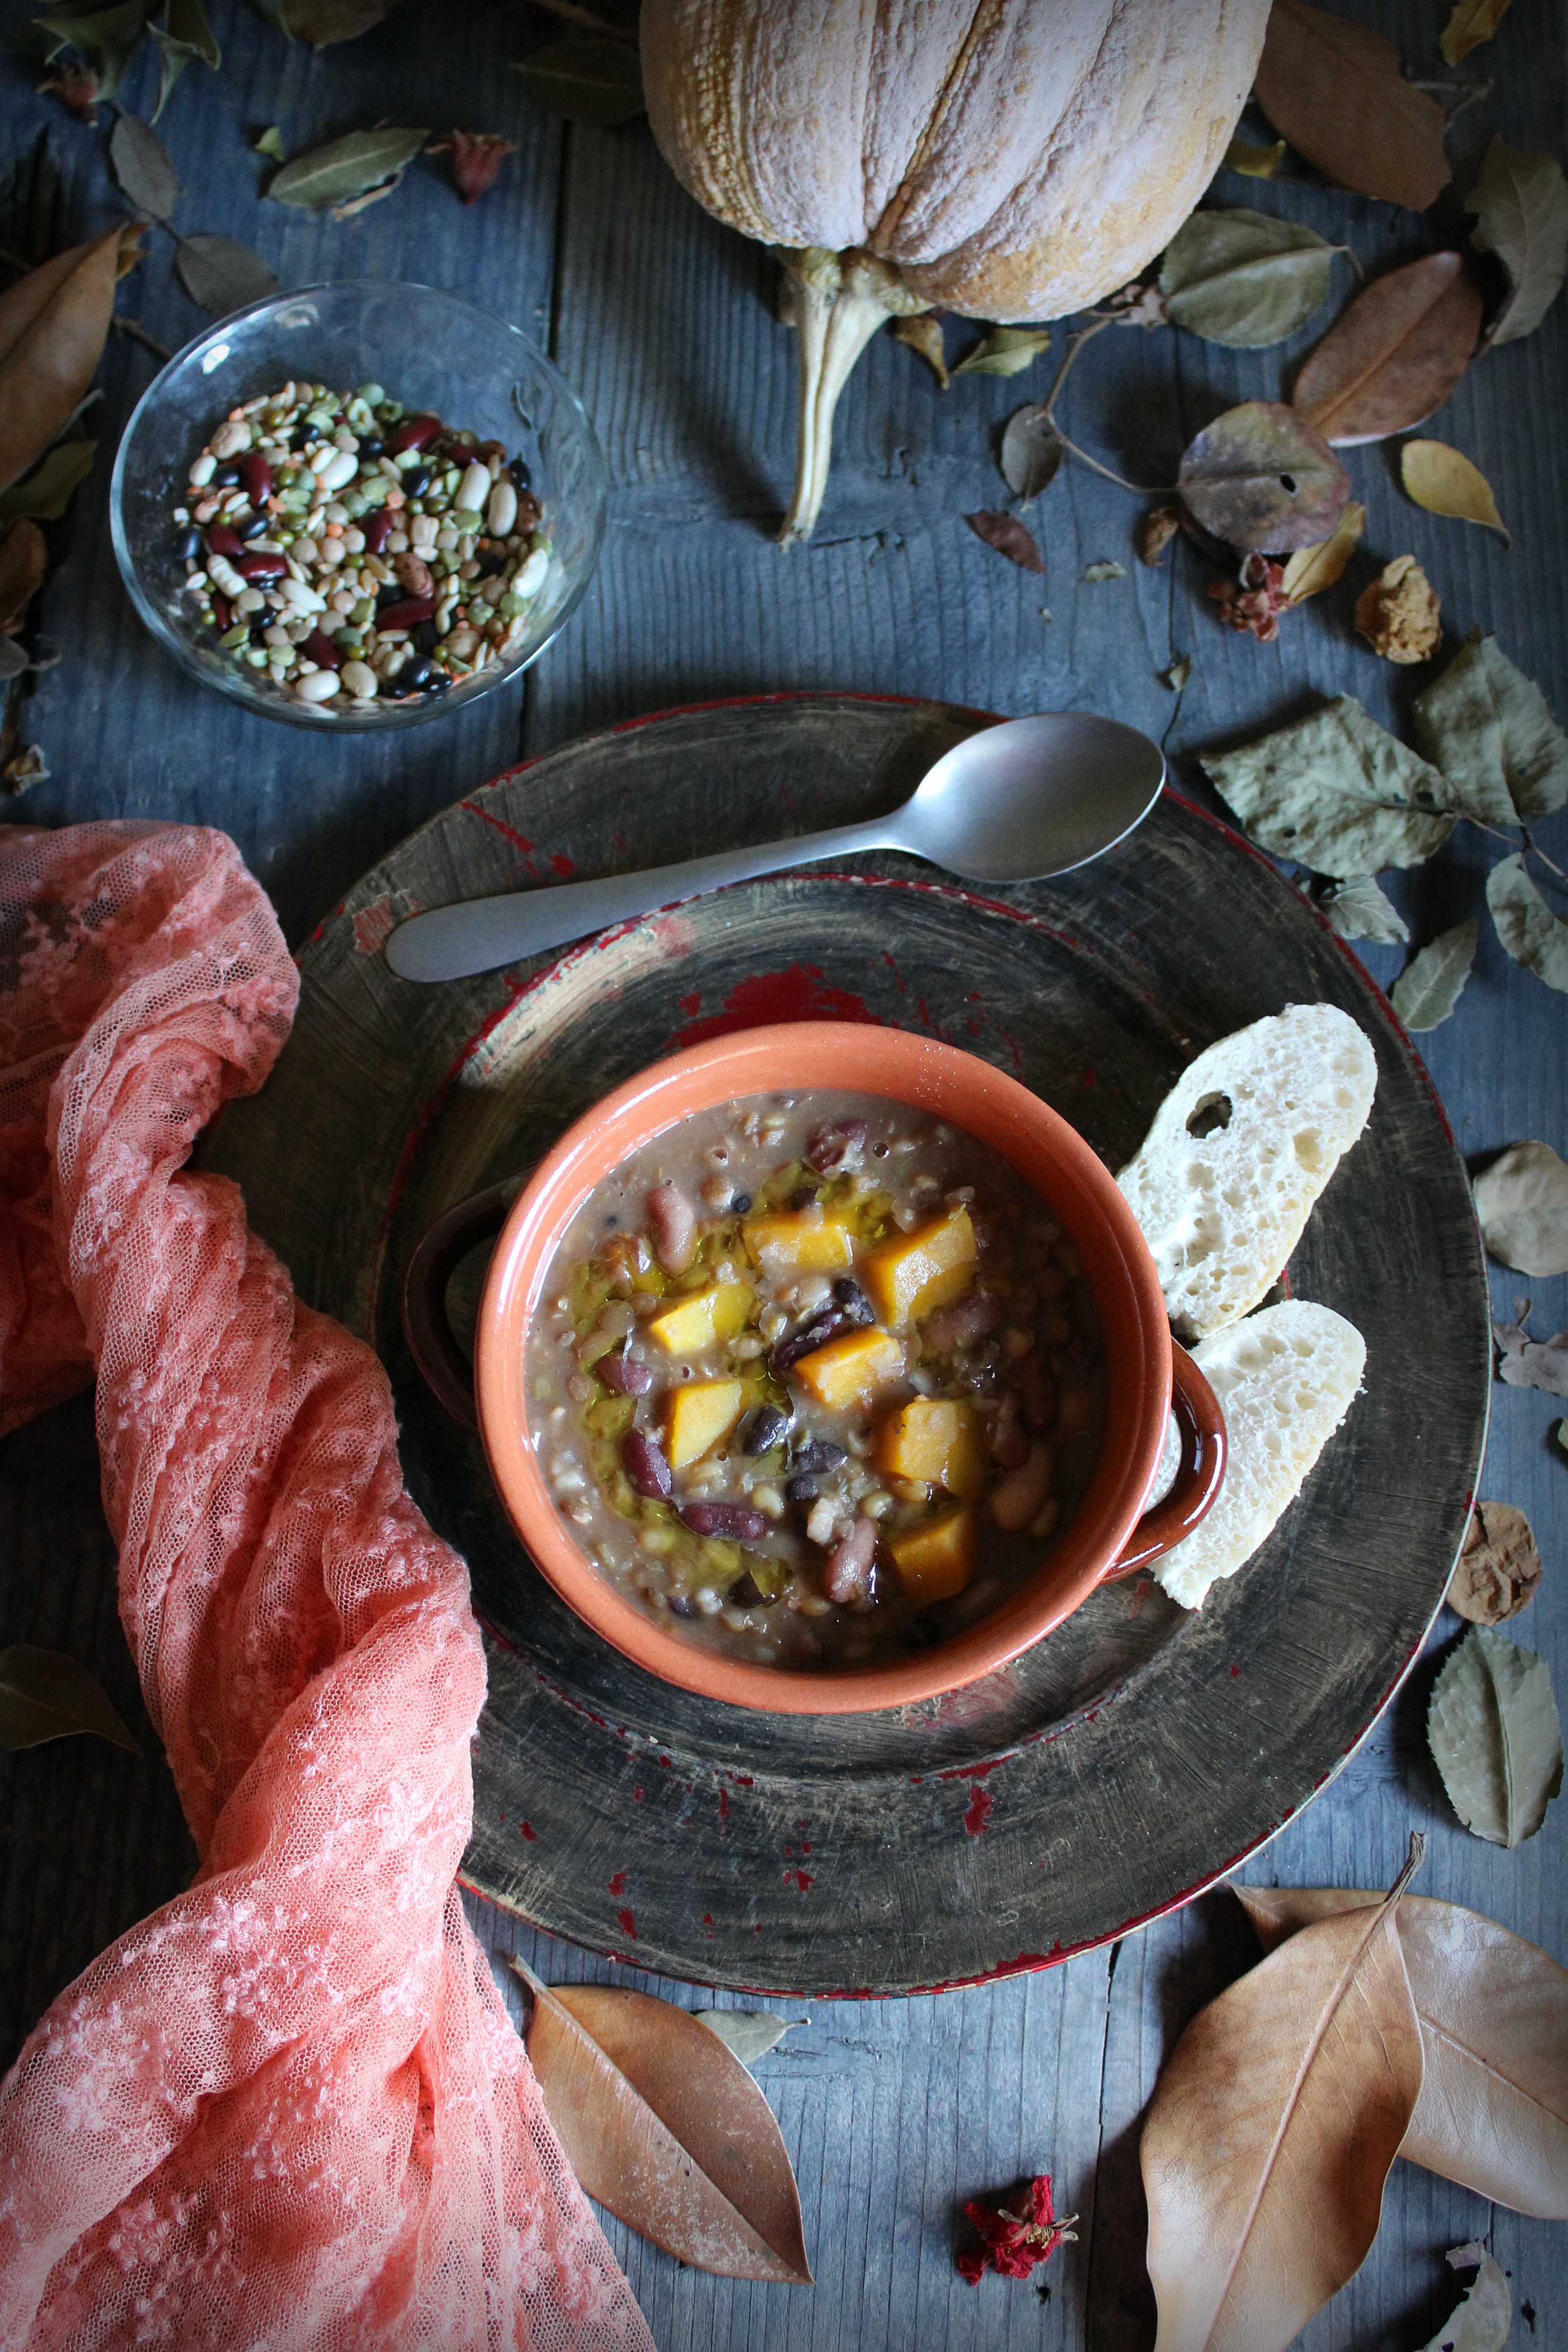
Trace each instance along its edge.
{"label": "crinkled grey-green leaf just right of the spoon's bowl", "polygon": [[1262,849],[1335,880],[1420,866],[1455,823],[1415,807],[1436,790],[1436,769],[1368,720],[1354,694],[1199,764]]}

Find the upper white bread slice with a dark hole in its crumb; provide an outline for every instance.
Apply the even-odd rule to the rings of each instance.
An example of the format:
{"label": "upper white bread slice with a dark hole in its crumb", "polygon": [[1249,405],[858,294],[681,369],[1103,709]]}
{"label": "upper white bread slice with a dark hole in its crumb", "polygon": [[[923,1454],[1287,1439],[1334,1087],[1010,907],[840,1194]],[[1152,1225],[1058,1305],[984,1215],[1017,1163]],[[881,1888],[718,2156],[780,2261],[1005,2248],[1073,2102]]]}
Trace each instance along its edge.
{"label": "upper white bread slice with a dark hole in its crumb", "polygon": [[1258,1305],[1366,1127],[1375,1084],[1368,1040],[1333,1004],[1288,1004],[1182,1070],[1117,1176],[1182,1338]]}

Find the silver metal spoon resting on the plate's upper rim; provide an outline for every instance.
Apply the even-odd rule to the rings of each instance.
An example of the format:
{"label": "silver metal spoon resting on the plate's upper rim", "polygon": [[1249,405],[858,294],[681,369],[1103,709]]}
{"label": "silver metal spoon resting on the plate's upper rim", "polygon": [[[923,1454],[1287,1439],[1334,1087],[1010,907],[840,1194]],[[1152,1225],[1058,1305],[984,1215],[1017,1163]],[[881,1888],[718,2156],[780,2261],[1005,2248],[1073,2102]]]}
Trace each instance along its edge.
{"label": "silver metal spoon resting on the plate's upper rim", "polygon": [[386,960],[404,981],[461,981],[724,882],[865,849],[907,849],[966,882],[1041,882],[1126,840],[1164,781],[1159,748],[1135,727],[1088,710],[1004,720],[954,743],[900,809],[865,826],[437,906],[397,924]]}

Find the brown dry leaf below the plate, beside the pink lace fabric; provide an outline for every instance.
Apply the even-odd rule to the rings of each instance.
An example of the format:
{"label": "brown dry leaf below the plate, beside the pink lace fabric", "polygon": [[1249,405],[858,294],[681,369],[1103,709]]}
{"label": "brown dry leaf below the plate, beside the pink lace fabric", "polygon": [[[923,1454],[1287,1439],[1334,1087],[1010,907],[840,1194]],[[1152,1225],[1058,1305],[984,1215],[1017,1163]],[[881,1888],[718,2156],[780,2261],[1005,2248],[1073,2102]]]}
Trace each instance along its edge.
{"label": "brown dry leaf below the plate, beside the pink lace fabric", "polygon": [[527,2046],[567,2157],[602,2206],[724,2279],[811,2286],[773,2110],[719,2034],[611,1985],[543,1985]]}

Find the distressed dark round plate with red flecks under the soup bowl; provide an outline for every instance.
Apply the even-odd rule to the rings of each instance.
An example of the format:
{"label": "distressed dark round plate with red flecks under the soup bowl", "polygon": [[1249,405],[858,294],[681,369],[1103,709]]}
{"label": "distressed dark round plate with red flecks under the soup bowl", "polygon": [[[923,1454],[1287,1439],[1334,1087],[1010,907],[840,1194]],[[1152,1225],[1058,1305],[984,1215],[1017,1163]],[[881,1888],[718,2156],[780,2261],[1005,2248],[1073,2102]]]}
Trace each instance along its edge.
{"label": "distressed dark round plate with red flecks under the soup bowl", "polygon": [[[938,703],[771,696],[498,776],[322,924],[277,1073],[207,1150],[301,1294],[378,1348],[409,1486],[473,1569],[491,1682],[465,1877],[670,1976],[907,1992],[1063,1959],[1185,1900],[1345,1762],[1465,1531],[1488,1303],[1446,1120],[1356,960],[1178,795],[1098,866],[1025,889],[976,896],[886,856],[449,988],[397,981],[378,953],[423,906],[872,816],[976,724]],[[1345,1007],[1378,1051],[1371,1124],[1288,1270],[1366,1334],[1366,1392],[1197,1616],[1135,1578],[945,1700],[842,1719],[703,1700],[564,1609],[477,1442],[409,1364],[397,1287],[430,1218],[524,1171],[672,1047],[802,1016],[926,1028],[1023,1077],[1117,1167],[1199,1047],[1309,1000]]]}

